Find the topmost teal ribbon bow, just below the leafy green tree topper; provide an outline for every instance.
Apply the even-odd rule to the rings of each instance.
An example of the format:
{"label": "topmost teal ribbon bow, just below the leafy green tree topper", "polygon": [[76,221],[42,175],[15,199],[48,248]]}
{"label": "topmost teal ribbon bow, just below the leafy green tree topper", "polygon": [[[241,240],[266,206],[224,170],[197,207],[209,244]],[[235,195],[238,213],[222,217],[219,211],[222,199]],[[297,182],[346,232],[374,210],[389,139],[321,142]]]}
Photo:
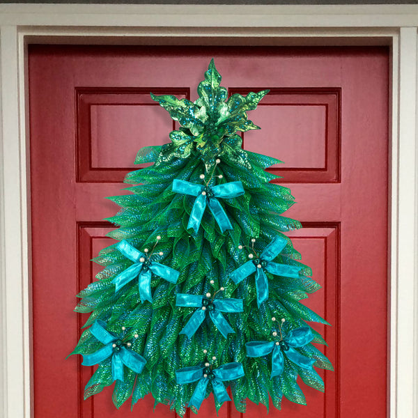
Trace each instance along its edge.
{"label": "topmost teal ribbon bow, just below the leafy green tree topper", "polygon": [[230,183],[224,183],[216,186],[196,185],[185,180],[173,181],[173,192],[189,194],[190,196],[196,196],[196,200],[193,203],[192,212],[190,213],[189,223],[187,229],[194,229],[194,233],[199,231],[199,226],[205,212],[206,206],[209,206],[210,212],[221,232],[224,233],[227,229],[232,229],[231,222],[226,215],[224,208],[217,198],[232,199],[233,197],[242,196],[245,194],[244,187],[240,181],[232,181]]}

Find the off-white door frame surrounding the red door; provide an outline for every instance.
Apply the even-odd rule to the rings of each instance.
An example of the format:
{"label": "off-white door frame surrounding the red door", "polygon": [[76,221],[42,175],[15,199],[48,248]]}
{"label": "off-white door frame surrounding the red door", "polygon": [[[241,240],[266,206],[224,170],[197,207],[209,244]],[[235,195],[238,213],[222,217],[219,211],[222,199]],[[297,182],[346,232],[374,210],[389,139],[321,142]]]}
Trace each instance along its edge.
{"label": "off-white door frame surrounding the red door", "polygon": [[0,415],[33,416],[26,45],[188,42],[391,46],[389,417],[417,417],[417,27],[418,6],[0,5]]}

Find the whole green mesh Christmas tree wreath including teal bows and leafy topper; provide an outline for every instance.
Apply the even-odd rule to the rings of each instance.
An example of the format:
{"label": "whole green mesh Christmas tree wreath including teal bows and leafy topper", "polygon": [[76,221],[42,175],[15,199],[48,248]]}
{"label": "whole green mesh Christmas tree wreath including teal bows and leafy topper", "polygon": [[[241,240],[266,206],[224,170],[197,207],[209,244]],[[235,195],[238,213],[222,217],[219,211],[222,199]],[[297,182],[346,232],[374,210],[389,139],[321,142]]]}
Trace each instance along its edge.
{"label": "whole green mesh Christmas tree wreath including teal bows and leafy topper", "polygon": [[[213,392],[245,412],[247,399],[276,408],[305,403],[297,376],[323,391],[314,366],[332,369],[312,345],[326,324],[299,301],[319,286],[284,232],[289,189],[269,183],[279,160],[242,150],[237,132],[268,91],[228,98],[211,61],[196,102],[152,95],[180,129],[170,144],[139,150],[131,194],[110,199],[118,240],[100,251],[97,281],[78,297],[91,312],[77,347],[98,364],[85,398],[114,383],[116,407],[151,393],[184,415]],[[226,388],[230,386],[228,392]]]}

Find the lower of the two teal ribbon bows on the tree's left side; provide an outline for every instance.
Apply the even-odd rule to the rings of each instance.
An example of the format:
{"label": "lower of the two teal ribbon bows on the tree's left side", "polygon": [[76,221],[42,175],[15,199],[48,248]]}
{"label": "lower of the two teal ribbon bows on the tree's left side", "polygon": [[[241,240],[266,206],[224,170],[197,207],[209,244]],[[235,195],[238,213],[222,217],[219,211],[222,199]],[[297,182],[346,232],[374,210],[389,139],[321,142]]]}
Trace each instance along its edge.
{"label": "lower of the two teal ribbon bows on the tree's left side", "polygon": [[94,366],[111,356],[111,377],[123,382],[123,364],[135,373],[142,373],[146,359],[126,348],[125,343],[106,330],[106,323],[96,320],[90,327],[90,332],[104,347],[93,354],[83,355],[83,366]]}

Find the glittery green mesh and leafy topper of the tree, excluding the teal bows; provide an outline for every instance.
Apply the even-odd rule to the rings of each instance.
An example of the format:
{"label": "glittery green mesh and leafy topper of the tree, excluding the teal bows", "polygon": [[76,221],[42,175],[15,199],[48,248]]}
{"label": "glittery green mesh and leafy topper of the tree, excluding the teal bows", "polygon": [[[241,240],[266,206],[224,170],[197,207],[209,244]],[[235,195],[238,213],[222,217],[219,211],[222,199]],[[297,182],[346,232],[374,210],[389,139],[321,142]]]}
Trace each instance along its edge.
{"label": "glittery green mesh and leafy topper of the tree, excluding the teal bows", "polygon": [[[293,196],[286,187],[269,183],[277,178],[265,168],[278,160],[242,150],[241,139],[235,133],[258,129],[247,119],[247,111],[256,109],[267,91],[249,93],[246,98],[233,95],[227,99],[226,89],[219,86],[220,75],[213,62],[206,72],[206,79],[199,84],[199,100],[189,102],[173,96],[155,96],[153,99],[169,111],[181,125],[180,130],[170,134],[171,143],[164,146],[148,146],[139,150],[137,164],[150,163],[148,168],[132,171],[125,183],[133,185],[130,194],[110,197],[121,210],[109,218],[118,229],[108,235],[116,240],[127,240],[141,251],[153,246],[157,235],[162,239],[158,251],[164,251],[160,261],[180,272],[177,284],[171,284],[153,276],[151,288],[153,302],[141,304],[137,281],[132,280],[115,292],[111,280],[132,265],[114,245],[100,251],[96,263],[103,266],[97,281],[79,293],[81,298],[75,311],[91,313],[84,327],[95,320],[107,323],[109,331],[118,332],[127,327],[132,339],[132,350],[146,359],[143,373],[136,374],[125,367],[124,381],[116,380],[112,399],[116,407],[132,398],[132,406],[151,393],[155,404],[164,403],[168,408],[184,415],[187,402],[196,384],[178,385],[175,372],[186,366],[195,366],[205,360],[203,349],[217,357],[217,366],[228,362],[241,362],[245,377],[230,385],[235,408],[245,412],[246,401],[263,403],[281,408],[285,396],[295,403],[306,403],[302,390],[297,385],[297,376],[315,389],[324,390],[323,382],[314,369],[300,369],[285,356],[284,373],[270,378],[270,357],[247,357],[245,343],[270,339],[271,318],[285,318],[285,327],[291,330],[307,325],[304,321],[327,324],[300,300],[320,287],[309,276],[311,269],[303,266],[298,279],[274,277],[267,273],[270,294],[267,302],[256,302],[256,286],[251,275],[236,285],[228,274],[247,261],[245,251],[238,245],[250,245],[256,238],[255,249],[262,251],[272,238],[283,232],[301,227],[300,222],[282,214],[293,205]],[[215,159],[221,164],[215,167]],[[222,199],[222,206],[233,229],[221,233],[219,226],[208,210],[205,211],[196,235],[187,231],[187,222],[194,197],[172,192],[173,180],[188,180],[201,184],[199,175],[216,169],[222,175],[217,183],[240,180],[245,195],[235,199]],[[275,258],[277,263],[301,265],[300,254],[292,242]],[[214,284],[210,284],[210,280]],[[242,314],[224,314],[235,330],[227,339],[219,333],[210,320],[205,320],[191,340],[179,335],[192,308],[176,307],[177,293],[201,295],[224,286],[225,297],[242,298]],[[312,330],[314,342],[324,344],[322,336]],[[91,354],[102,347],[88,328],[84,330],[73,354]],[[332,370],[330,361],[311,343],[297,348],[302,355],[316,359],[314,366]],[[112,385],[110,358],[100,363],[86,385],[85,398],[97,394]],[[207,396],[210,394],[208,385]],[[220,404],[215,401],[216,408]],[[194,408],[192,408],[194,410]],[[196,410],[194,410],[196,412]]]}

